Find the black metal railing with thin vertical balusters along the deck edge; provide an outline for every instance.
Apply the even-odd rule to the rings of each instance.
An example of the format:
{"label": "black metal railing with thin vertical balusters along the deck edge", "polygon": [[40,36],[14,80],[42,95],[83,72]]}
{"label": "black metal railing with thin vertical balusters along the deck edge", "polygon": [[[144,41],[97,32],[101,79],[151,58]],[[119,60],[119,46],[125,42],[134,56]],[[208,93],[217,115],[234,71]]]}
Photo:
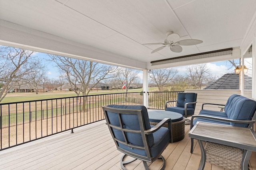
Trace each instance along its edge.
{"label": "black metal railing with thin vertical balusters along the deck edge", "polygon": [[[164,109],[178,92],[148,92],[149,108]],[[104,118],[102,106],[143,105],[143,92],[102,94],[0,104],[0,150]]]}

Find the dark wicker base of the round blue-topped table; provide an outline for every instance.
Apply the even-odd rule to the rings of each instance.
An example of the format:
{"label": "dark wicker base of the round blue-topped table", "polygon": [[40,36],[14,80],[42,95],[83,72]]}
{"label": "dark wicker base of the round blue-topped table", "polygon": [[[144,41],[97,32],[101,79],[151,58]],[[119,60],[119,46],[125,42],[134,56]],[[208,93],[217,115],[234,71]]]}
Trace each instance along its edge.
{"label": "dark wicker base of the round blue-topped table", "polygon": [[[150,121],[150,125],[156,125],[158,122]],[[164,124],[168,127],[168,123]],[[172,142],[178,142],[185,136],[185,117],[181,121],[172,122]]]}

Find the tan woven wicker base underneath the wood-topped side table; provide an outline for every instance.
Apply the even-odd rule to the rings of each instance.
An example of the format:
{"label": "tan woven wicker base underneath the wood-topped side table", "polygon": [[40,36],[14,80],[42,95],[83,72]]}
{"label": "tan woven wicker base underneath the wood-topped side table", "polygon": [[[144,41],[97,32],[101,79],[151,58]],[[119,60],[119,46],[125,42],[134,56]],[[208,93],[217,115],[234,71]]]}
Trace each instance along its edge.
{"label": "tan woven wicker base underneath the wood-topped side table", "polygon": [[204,150],[206,152],[206,162],[232,170],[241,169],[243,157],[241,149],[207,142]]}

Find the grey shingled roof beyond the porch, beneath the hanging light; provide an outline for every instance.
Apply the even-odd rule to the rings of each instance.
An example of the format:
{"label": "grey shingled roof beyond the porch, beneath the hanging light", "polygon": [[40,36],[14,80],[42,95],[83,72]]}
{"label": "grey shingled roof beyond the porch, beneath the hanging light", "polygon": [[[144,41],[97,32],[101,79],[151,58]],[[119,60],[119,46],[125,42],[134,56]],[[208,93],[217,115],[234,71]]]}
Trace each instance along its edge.
{"label": "grey shingled roof beyond the porch, beneath the hanging light", "polygon": [[[229,73],[212,82],[204,89],[239,89],[239,74]],[[244,89],[252,90],[252,78],[244,75]]]}

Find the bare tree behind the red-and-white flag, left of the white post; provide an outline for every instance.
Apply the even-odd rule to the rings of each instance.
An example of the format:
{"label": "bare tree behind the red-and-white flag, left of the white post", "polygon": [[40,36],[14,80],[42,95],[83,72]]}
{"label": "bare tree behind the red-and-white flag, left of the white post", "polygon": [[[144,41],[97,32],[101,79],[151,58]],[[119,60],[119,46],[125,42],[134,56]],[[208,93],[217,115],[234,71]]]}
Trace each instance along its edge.
{"label": "bare tree behind the red-and-white flag, left of the white post", "polygon": [[116,71],[116,78],[120,81],[121,84],[126,84],[126,93],[128,92],[130,85],[138,79],[138,73],[138,70],[121,67]]}

